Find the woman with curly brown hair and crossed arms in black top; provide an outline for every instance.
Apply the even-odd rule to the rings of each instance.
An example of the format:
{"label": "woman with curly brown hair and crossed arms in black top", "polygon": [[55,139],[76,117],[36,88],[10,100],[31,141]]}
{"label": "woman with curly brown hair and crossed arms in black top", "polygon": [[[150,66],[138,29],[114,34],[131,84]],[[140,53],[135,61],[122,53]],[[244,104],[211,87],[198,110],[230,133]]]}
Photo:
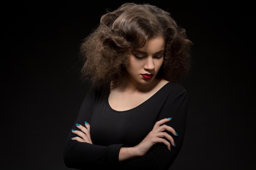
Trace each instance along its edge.
{"label": "woman with curly brown hair and crossed arms in black top", "polygon": [[68,168],[168,170],[182,146],[192,42],[170,13],[125,3],[81,44],[91,84],[64,152]]}

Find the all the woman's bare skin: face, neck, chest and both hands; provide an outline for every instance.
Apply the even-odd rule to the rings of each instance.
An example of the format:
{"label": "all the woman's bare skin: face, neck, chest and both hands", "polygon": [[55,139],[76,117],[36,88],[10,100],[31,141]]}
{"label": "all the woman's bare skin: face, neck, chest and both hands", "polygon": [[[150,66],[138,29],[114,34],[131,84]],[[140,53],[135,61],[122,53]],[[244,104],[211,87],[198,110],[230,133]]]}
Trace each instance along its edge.
{"label": "all the woman's bare skin: face, neck, chest and both hands", "polygon": [[[154,95],[166,83],[164,79],[156,78],[156,75],[164,61],[164,38],[158,36],[147,40],[145,46],[140,49],[131,51],[130,62],[126,66],[124,80],[117,88],[110,91],[108,102],[110,106],[119,111],[128,110],[138,106]],[[142,75],[145,73],[153,74],[150,79],[145,79]],[[134,147],[123,147],[119,152],[119,161],[126,161],[146,155],[148,150],[157,143],[163,143],[170,150],[171,145],[175,146],[173,137],[164,132],[171,132],[176,136],[175,130],[165,125],[164,123],[171,121],[165,118],[155,123],[153,129],[148,135]],[[76,126],[80,130],[72,131],[79,137],[74,137],[72,140],[79,142],[87,142],[92,144],[90,137],[90,124],[85,126]],[[166,139],[164,139],[166,138]]]}

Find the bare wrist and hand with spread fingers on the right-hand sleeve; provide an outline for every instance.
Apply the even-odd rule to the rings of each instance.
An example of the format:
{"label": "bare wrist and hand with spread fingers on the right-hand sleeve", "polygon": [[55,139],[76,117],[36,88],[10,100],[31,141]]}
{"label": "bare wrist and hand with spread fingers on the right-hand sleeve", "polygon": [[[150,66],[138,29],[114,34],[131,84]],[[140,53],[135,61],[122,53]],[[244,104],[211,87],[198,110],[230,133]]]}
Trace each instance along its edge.
{"label": "bare wrist and hand with spread fingers on the right-hand sleeve", "polygon": [[[157,143],[163,143],[167,146],[168,150],[171,149],[171,145],[175,146],[174,139],[165,130],[171,132],[177,136],[175,130],[171,126],[167,126],[164,123],[171,121],[172,118],[165,118],[157,121],[153,129],[148,135],[135,147],[121,148],[119,152],[119,161],[125,161],[135,157],[142,157],[146,155],[148,150]],[[165,138],[165,139],[164,139]],[[167,140],[166,140],[167,139]]]}

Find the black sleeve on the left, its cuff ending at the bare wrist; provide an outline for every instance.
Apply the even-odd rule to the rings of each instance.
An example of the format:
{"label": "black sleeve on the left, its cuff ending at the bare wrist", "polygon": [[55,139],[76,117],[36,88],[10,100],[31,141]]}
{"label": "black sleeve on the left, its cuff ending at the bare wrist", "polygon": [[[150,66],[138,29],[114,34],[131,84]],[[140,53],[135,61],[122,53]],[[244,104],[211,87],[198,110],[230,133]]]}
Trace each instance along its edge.
{"label": "black sleeve on the left, its cuff ending at the bare wrist", "polygon": [[[88,91],[81,104],[79,114],[71,129],[79,130],[76,123],[84,126],[84,121],[90,123],[97,92],[94,90]],[[75,134],[69,132],[64,148],[63,160],[67,168],[88,169],[93,166],[95,169],[101,165],[119,164],[119,150],[122,144],[110,146],[99,146],[88,143],[81,143],[71,140]]]}

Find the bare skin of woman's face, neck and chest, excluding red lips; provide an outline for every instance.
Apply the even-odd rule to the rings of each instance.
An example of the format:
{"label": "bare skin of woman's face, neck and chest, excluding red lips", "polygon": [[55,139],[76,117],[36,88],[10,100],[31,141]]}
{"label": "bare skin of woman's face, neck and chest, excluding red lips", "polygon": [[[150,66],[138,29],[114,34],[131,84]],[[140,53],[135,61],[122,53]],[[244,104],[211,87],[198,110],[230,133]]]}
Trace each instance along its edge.
{"label": "bare skin of woman's face, neck and chest, excluding red lips", "polygon": [[[159,91],[167,81],[157,79],[156,75],[164,61],[164,38],[162,36],[148,40],[136,50],[131,50],[130,62],[126,66],[123,81],[110,91],[108,102],[117,111],[135,108]],[[143,74],[153,74],[150,79]]]}

